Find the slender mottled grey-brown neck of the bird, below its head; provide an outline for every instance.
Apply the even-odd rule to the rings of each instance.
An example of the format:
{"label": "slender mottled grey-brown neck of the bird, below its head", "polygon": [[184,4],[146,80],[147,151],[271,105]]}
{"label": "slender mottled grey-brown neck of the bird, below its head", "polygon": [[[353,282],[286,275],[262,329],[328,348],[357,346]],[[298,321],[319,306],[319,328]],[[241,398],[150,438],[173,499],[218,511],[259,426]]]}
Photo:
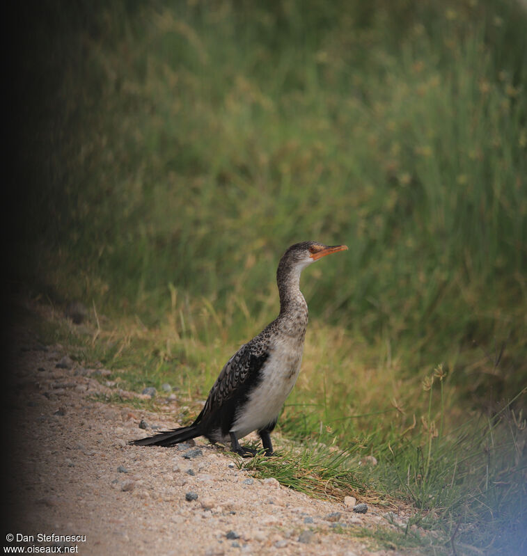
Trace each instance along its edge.
{"label": "slender mottled grey-brown neck of the bird, below its head", "polygon": [[300,291],[301,268],[278,267],[276,281],[280,294],[280,315],[276,319],[283,333],[301,337],[304,340],[308,324],[308,305]]}

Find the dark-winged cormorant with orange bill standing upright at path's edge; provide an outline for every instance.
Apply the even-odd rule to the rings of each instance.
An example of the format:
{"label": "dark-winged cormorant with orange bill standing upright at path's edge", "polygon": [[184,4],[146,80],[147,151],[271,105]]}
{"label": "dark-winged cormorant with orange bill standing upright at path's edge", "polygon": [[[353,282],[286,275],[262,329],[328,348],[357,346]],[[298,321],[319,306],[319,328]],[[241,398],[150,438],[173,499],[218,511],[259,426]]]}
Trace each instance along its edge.
{"label": "dark-winged cormorant with orange bill standing upright at path's edge", "polygon": [[316,241],[290,246],[276,271],[278,317],[227,361],[196,420],[188,427],[129,444],[169,447],[205,436],[213,444],[230,442],[233,452],[250,457],[260,451],[242,447],[239,439],[258,431],[265,456],[272,456],[270,434],[297,381],[308,325],[308,305],[300,291],[301,271],[326,255],[346,250],[345,245],[327,246]]}

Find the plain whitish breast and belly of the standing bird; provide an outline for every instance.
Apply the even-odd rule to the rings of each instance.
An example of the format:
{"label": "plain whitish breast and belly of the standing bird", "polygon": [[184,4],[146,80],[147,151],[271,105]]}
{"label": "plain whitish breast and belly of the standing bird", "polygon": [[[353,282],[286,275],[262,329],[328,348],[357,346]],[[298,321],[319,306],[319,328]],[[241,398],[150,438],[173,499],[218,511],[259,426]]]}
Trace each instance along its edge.
{"label": "plain whitish breast and belly of the standing bird", "polygon": [[270,350],[258,386],[236,415],[231,428],[237,438],[262,429],[278,417],[300,371],[303,342],[286,337]]}

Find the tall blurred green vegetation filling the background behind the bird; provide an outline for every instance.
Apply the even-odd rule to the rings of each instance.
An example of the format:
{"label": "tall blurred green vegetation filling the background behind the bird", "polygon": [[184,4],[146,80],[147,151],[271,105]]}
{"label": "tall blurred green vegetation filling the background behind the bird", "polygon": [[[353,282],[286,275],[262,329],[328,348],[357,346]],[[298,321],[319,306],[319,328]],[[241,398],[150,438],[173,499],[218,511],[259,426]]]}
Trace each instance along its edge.
{"label": "tall blurred green vegetation filling the background behind the bird", "polygon": [[[411,427],[434,368],[441,396],[425,395],[446,422],[526,387],[524,3],[18,10],[15,289],[168,323],[200,346],[178,364],[206,361],[204,396],[276,315],[285,248],[345,243],[302,279],[312,324],[284,431],[331,422],[379,448]],[[372,412],[375,431],[342,420]]]}

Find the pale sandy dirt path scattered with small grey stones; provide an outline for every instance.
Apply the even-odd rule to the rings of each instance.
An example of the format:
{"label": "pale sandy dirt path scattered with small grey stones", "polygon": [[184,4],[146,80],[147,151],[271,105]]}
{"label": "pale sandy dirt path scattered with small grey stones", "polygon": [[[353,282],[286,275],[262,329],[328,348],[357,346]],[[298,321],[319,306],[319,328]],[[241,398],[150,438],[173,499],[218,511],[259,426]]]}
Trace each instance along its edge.
{"label": "pale sandy dirt path scattered with small grey stones", "polygon": [[[3,546],[52,546],[40,542],[40,533],[82,535],[55,546],[77,546],[84,555],[385,553],[370,552],[350,534],[385,524],[383,509],[355,514],[276,479],[253,479],[200,438],[188,450],[127,445],[145,435],[141,419],[162,428],[173,420],[94,401],[113,385],[63,360],[65,347],[42,346],[27,329],[13,334],[10,432],[23,441],[13,447],[13,470],[4,477],[13,529],[7,533],[15,540],[4,534]],[[70,368],[57,367],[61,360]],[[17,542],[17,534],[33,541]]]}

